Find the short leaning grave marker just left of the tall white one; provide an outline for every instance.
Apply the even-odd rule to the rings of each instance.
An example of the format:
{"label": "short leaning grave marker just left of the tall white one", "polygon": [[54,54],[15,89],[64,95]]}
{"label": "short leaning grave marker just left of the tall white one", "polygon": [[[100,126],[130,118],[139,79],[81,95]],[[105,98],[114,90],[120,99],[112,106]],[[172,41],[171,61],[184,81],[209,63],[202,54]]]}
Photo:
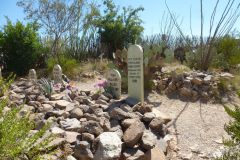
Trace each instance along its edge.
{"label": "short leaning grave marker just left of the tall white one", "polygon": [[121,75],[118,70],[112,69],[107,74],[107,81],[113,88],[117,99],[121,97]]}

